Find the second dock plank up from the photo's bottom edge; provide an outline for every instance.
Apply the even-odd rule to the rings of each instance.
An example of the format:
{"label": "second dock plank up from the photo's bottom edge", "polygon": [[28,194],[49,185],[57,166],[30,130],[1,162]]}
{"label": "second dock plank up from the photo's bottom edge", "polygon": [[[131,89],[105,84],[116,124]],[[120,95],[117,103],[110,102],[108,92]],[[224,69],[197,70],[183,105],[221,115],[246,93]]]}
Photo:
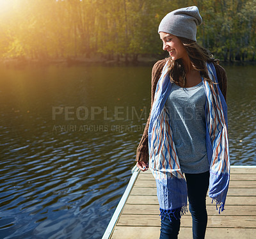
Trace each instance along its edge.
{"label": "second dock plank up from the photo's bottom edge", "polygon": [[[181,227],[191,227],[190,215],[183,215]],[[118,226],[160,226],[158,215],[125,215],[122,214]],[[256,228],[256,215],[253,216],[220,216],[214,215],[208,218],[207,227],[221,228]]]}

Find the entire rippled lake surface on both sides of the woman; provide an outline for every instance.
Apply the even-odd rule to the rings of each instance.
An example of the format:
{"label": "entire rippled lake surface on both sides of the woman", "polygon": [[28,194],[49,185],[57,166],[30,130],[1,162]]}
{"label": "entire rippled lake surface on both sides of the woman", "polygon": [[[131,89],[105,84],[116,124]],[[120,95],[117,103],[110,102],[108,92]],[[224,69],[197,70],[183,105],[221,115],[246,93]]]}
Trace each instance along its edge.
{"label": "entire rippled lake surface on both sides of the woman", "polygon": [[[231,164],[256,165],[256,68],[225,69]],[[0,75],[0,238],[101,238],[135,164],[151,67]]]}

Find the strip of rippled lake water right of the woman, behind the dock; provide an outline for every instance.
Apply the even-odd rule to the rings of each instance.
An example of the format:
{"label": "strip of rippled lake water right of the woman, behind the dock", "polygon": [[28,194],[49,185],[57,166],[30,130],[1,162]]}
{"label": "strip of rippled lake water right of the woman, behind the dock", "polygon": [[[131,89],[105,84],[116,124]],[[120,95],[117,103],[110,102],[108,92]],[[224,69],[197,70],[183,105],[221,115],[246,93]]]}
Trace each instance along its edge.
{"label": "strip of rippled lake water right of the woman, behind the dock", "polygon": [[228,127],[233,165],[256,165],[256,68],[226,66]]}

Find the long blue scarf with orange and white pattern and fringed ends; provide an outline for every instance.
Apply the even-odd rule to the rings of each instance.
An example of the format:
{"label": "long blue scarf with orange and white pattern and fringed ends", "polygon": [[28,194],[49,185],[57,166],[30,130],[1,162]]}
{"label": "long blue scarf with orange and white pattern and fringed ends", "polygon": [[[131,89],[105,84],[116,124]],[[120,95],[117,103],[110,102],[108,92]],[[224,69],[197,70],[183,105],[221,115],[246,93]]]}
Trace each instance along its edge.
{"label": "long blue scarf with orange and white pattern and fringed ends", "polygon": [[[211,81],[218,83],[212,63],[207,63],[207,71]],[[209,84],[204,79],[202,81],[207,99],[205,121],[210,171],[209,197],[219,206],[220,212],[224,210],[230,175],[227,104],[218,84]],[[148,128],[149,167],[156,178],[161,217],[175,210],[182,215],[187,206],[186,180],[180,170],[179,157],[173,143],[170,114],[164,105],[172,84],[167,61],[157,82]]]}

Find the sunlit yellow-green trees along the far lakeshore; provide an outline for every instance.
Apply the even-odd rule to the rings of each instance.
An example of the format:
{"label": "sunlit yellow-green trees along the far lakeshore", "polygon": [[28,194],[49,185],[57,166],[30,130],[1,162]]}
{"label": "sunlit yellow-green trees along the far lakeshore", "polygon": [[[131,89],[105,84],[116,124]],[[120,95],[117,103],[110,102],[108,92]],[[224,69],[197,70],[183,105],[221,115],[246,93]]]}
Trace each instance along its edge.
{"label": "sunlit yellow-green trees along the far lakeshore", "polygon": [[158,58],[159,22],[192,5],[203,18],[200,45],[224,61],[256,60],[256,0],[8,0],[0,10],[0,57]]}

